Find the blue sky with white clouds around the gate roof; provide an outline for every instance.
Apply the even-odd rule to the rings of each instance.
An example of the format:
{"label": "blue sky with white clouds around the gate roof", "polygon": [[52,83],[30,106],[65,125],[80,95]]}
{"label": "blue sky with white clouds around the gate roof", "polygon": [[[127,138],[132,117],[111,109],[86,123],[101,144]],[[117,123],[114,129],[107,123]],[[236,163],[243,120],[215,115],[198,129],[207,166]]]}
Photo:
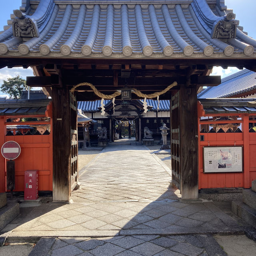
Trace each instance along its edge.
{"label": "blue sky with white clouds around the gate roof", "polygon": [[[7,20],[10,19],[10,14],[13,13],[13,10],[19,9],[21,2],[22,0],[9,0],[6,1],[5,4],[1,4],[0,31],[3,30],[4,25],[7,25]],[[240,20],[240,26],[244,27],[244,31],[248,32],[249,36],[256,39],[256,0],[225,0],[225,4],[229,9],[233,9],[233,12],[236,14],[236,20]],[[238,71],[236,68],[228,68],[227,70],[223,70],[220,67],[216,67],[214,68],[212,75],[221,75],[223,78],[236,71]],[[18,74],[24,79],[26,79],[26,76],[33,76],[33,72],[30,68],[2,68],[0,70],[0,84],[2,84],[2,80],[6,80],[7,78],[16,76]]]}

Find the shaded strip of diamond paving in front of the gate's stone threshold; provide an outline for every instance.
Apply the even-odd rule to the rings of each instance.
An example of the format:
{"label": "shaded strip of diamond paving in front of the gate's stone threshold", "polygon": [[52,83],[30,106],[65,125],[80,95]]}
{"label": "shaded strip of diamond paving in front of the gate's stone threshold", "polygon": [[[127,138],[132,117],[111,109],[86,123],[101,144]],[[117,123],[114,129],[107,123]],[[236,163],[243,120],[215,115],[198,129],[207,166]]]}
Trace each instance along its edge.
{"label": "shaded strip of diamond paving in front of the gate's stone threshold", "polygon": [[[45,246],[46,240],[50,243]],[[50,248],[49,248],[50,247]],[[42,251],[43,254],[38,254]],[[41,238],[29,256],[226,256],[210,235]]]}

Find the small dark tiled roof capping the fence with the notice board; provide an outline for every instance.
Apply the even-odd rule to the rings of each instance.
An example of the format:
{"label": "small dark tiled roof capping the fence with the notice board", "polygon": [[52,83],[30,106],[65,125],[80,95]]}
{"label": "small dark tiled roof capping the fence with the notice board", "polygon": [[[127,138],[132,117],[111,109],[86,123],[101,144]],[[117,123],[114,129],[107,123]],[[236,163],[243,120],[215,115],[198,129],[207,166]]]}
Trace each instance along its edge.
{"label": "small dark tiled roof capping the fence with the notice board", "polygon": [[248,106],[248,102],[254,102],[255,98],[214,98],[198,99],[204,107],[205,114],[236,114],[236,113],[254,113],[255,106]]}

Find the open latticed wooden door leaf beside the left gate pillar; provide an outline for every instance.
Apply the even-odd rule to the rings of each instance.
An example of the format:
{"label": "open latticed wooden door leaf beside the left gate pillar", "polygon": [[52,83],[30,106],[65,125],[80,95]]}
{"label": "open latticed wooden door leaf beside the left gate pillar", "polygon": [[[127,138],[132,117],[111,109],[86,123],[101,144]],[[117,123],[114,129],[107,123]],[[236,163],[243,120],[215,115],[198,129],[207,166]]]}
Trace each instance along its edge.
{"label": "open latticed wooden door leaf beside the left gate pillar", "polygon": [[[71,123],[71,152],[70,152],[70,190],[74,190],[78,182],[78,131],[76,97],[70,93],[70,123]],[[71,192],[70,191],[70,192]]]}

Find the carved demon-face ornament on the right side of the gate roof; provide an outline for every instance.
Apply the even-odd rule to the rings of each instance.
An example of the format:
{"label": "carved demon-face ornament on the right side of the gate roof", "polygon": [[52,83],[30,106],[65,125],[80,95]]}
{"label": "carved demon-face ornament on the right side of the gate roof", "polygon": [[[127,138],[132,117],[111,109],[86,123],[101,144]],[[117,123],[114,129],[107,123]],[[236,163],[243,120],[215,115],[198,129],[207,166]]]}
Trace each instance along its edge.
{"label": "carved demon-face ornament on the right side of the gate roof", "polygon": [[236,38],[236,27],[238,21],[235,20],[236,14],[229,12],[225,16],[216,20],[212,27],[212,38]]}

